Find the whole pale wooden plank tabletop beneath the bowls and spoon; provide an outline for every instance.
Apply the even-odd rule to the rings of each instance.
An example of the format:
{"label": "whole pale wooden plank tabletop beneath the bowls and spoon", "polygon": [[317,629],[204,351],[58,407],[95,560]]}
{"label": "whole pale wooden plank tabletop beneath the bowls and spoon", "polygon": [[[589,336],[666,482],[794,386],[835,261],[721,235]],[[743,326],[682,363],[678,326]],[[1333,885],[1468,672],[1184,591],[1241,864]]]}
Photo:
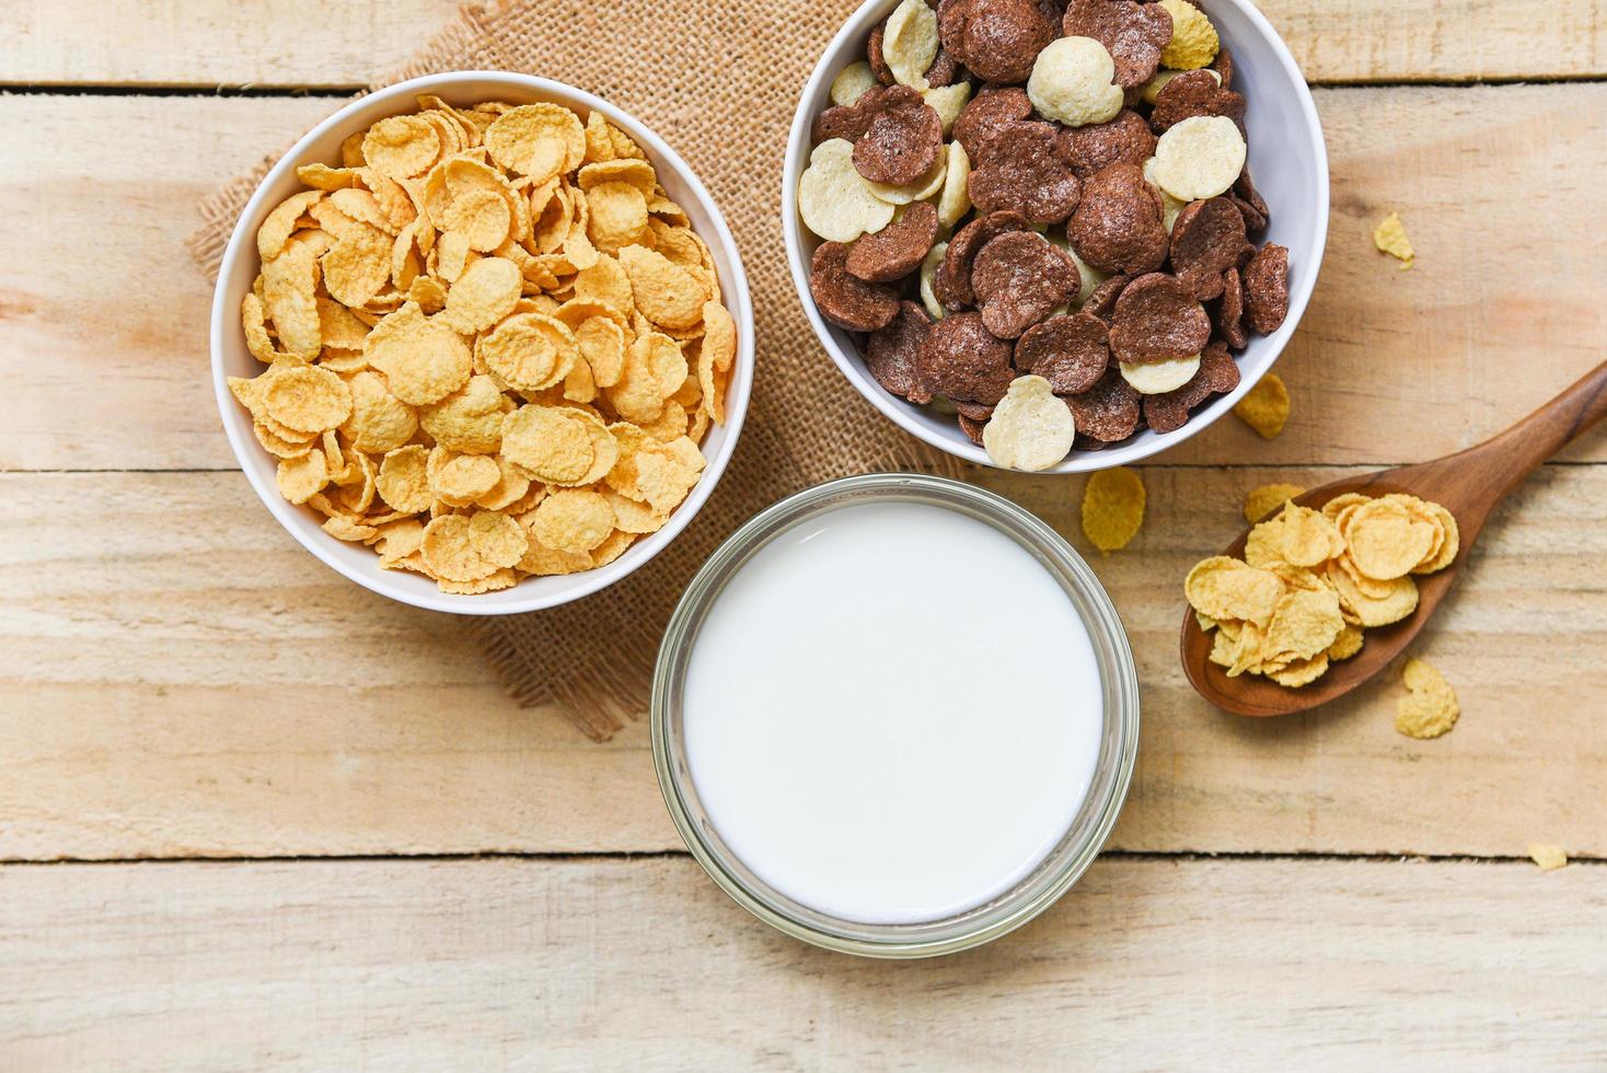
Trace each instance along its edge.
{"label": "whole pale wooden plank tabletop beneath the bowls and spoon", "polygon": [[[1225,716],[1173,649],[1247,488],[1470,445],[1602,358],[1607,0],[1268,0],[1334,173],[1294,416],[1141,467],[1144,532],[1093,554],[1146,683],[1122,822],[1038,922],[924,964],[747,919],[646,723],[514,708],[233,464],[194,202],[452,10],[0,5],[0,1068],[1607,1063],[1607,432],[1417,646],[1450,736],[1396,734],[1392,681]],[[1388,210],[1413,271],[1372,251]],[[1077,482],[977,479],[1088,551]]]}

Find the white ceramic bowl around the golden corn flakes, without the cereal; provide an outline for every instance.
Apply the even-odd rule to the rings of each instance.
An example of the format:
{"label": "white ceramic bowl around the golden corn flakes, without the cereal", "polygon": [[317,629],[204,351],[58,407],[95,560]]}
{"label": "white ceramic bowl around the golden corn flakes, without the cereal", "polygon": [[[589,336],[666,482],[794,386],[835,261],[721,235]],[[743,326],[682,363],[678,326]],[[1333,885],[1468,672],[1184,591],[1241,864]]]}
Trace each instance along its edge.
{"label": "white ceramic bowl around the golden corn flakes, without the cereal", "polygon": [[[556,101],[574,108],[582,117],[593,109],[603,112],[609,122],[635,138],[636,145],[643,148],[657,169],[664,190],[686,210],[693,228],[714,254],[722,296],[736,320],[738,333],[736,365],[731,368],[731,382],[726,392],[726,421],[723,426],[710,427],[702,443],[707,458],[702,479],[686,501],[675,508],[669,524],[657,533],[643,536],[625,554],[598,570],[567,577],[525,578],[513,588],[479,596],[453,596],[442,593],[426,577],[407,570],[381,570],[379,557],[371,548],[329,536],[320,528],[323,517],[312,508],[284,501],[273,485],[276,459],[257,443],[251,432],[251,416],[228,390],[228,376],[256,376],[262,371],[262,365],[246,350],[246,339],[239,328],[239,304],[259,270],[256,235],[262,218],[280,201],[301,190],[296,178],[297,165],[317,161],[337,164],[342,138],[386,116],[413,111],[416,108],[413,98],[419,93],[434,93],[448,104],[474,104],[485,100],[505,100],[516,104]],[[289,530],[291,536],[325,565],[366,590],[415,607],[463,615],[511,615],[567,604],[612,585],[652,559],[693,520],[693,516],[720,482],[720,474],[731,459],[736,439],[742,430],[742,418],[747,413],[747,398],[754,382],[754,310],[747,292],[747,276],[742,271],[742,259],[736,252],[736,241],[731,238],[720,209],[686,162],[656,133],[607,101],[562,82],[503,71],[460,71],[399,82],[352,101],[307,132],[273,165],[273,170],[246,204],[246,210],[228,239],[228,247],[223,251],[217,291],[212,296],[212,381],[219,411],[223,416],[223,430],[228,434],[228,442],[233,445],[235,456],[239,459],[241,469],[246,471],[251,487],[257,490],[262,503]]]}

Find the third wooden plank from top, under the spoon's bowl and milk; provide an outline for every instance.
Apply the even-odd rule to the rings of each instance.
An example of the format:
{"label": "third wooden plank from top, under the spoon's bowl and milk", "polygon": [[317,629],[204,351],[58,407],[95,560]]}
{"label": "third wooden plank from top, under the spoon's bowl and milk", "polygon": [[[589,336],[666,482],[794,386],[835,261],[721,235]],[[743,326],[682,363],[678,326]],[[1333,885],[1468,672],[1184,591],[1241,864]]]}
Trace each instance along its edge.
{"label": "third wooden plank from top, under the spoon's bowl and milk", "polygon": [[[1450,736],[1396,734],[1393,681],[1282,721],[1188,687],[1188,567],[1247,488],[1337,472],[1149,467],[1144,532],[1107,557],[1078,482],[985,479],[1072,536],[1130,631],[1143,737],[1112,845],[1607,856],[1607,466],[1548,466],[1414,649],[1461,697]],[[461,622],[325,570],[239,474],[10,474],[0,495],[0,858],[680,847],[644,723],[596,747],[514,710]]]}

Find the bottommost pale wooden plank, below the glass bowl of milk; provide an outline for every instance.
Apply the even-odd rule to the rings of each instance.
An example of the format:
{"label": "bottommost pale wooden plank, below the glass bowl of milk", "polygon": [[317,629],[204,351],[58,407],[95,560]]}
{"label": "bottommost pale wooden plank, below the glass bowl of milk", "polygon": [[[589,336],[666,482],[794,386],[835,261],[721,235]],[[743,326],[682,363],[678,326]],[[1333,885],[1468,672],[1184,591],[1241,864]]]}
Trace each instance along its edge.
{"label": "bottommost pale wooden plank, below the glass bowl of milk", "polygon": [[685,856],[13,866],[0,1065],[1591,1068],[1602,879],[1107,856],[897,964],[771,932]]}

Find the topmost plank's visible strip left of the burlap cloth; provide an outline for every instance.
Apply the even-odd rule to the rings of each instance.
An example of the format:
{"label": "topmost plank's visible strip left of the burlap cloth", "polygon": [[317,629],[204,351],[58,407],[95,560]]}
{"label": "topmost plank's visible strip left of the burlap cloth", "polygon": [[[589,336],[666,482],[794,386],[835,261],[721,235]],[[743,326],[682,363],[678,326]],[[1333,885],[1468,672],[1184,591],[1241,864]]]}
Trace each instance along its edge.
{"label": "topmost plank's visible strip left of the burlap cloth", "polygon": [[0,8],[0,82],[347,87],[402,66],[456,0],[16,0]]}

